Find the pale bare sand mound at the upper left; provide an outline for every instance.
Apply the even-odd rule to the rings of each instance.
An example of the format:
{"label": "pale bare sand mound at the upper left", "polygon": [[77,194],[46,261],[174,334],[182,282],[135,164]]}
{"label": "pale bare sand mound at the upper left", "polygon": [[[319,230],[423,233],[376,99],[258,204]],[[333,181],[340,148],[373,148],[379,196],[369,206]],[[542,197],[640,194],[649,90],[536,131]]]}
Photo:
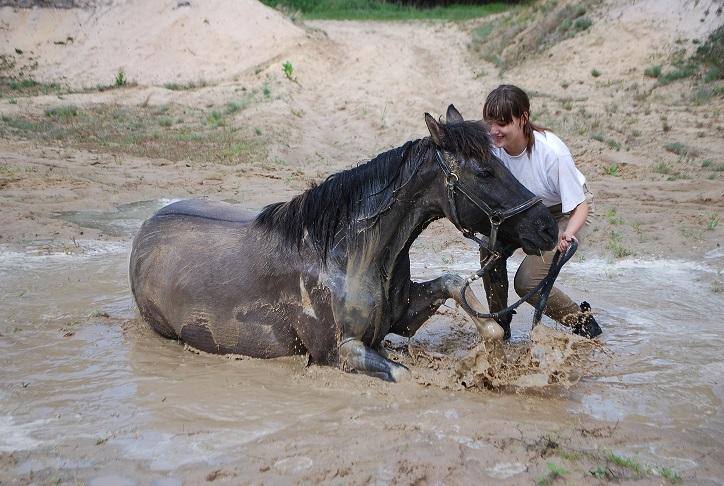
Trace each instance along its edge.
{"label": "pale bare sand mound at the upper left", "polygon": [[[188,4],[179,6],[179,4]],[[274,58],[301,28],[254,0],[131,0],[93,9],[0,10],[0,49],[34,57],[39,81],[139,84],[218,81]]]}

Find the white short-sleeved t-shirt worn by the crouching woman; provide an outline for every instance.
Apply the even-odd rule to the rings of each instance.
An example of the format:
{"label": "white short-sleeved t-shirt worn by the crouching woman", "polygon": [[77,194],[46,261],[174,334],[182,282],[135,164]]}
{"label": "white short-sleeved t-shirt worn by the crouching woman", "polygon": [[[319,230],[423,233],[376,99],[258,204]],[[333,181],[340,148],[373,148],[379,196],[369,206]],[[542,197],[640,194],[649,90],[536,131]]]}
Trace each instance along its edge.
{"label": "white short-sleeved t-shirt worn by the crouching woman", "polygon": [[563,213],[569,213],[586,200],[586,178],[576,169],[570,150],[560,138],[551,132],[534,130],[533,134],[530,156],[526,150],[510,155],[499,147],[493,147],[493,153],[530,192],[543,199],[543,204],[561,204]]}

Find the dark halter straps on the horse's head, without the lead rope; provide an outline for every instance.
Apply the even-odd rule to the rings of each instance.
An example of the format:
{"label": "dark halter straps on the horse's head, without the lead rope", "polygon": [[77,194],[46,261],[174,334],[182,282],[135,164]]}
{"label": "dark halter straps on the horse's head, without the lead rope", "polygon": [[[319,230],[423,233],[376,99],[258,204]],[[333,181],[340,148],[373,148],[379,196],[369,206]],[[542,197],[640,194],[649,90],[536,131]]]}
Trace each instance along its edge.
{"label": "dark halter straps on the horse's head, without the lead rope", "polygon": [[[500,228],[500,225],[503,224],[507,219],[510,219],[513,216],[520,214],[523,211],[526,211],[534,205],[538,204],[541,201],[541,198],[534,196],[527,201],[504,211],[501,211],[499,209],[493,209],[485,201],[475,196],[473,191],[471,191],[468,186],[466,186],[465,183],[460,180],[460,177],[458,177],[458,175],[445,162],[445,158],[440,149],[435,149],[435,160],[437,161],[437,165],[440,166],[440,170],[442,170],[443,174],[445,175],[445,185],[447,186],[447,199],[450,203],[450,220],[458,229],[458,231],[463,234],[464,237],[475,241],[481,247],[487,247],[488,255],[496,254],[497,259],[497,257],[499,257],[500,255],[495,251],[495,244],[498,239],[498,229]],[[483,213],[485,213],[485,215],[490,220],[490,235],[488,236],[487,244],[481,239],[477,238],[474,231],[464,227],[460,222],[457,209],[458,193],[464,196]]]}

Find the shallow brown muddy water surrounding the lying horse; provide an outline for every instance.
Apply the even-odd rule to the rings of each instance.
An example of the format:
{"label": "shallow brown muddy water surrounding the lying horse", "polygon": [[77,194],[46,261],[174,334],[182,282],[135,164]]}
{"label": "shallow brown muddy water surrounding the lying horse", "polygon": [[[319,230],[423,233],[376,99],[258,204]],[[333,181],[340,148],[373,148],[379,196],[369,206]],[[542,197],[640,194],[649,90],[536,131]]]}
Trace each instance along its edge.
{"label": "shallow brown muddy water surrounding the lying horse", "polygon": [[[130,239],[157,206],[59,217]],[[414,246],[415,277],[475,267],[471,248],[434,247],[425,235]],[[569,264],[564,282],[577,285],[565,288],[596,308],[606,353],[571,388],[501,393],[194,354],[137,320],[129,249],[0,247],[0,481],[515,483],[530,479],[530,444],[550,432],[701,482],[724,477],[722,252]],[[531,317],[516,316],[508,346],[526,345]],[[463,356],[474,341],[451,305],[402,344]]]}

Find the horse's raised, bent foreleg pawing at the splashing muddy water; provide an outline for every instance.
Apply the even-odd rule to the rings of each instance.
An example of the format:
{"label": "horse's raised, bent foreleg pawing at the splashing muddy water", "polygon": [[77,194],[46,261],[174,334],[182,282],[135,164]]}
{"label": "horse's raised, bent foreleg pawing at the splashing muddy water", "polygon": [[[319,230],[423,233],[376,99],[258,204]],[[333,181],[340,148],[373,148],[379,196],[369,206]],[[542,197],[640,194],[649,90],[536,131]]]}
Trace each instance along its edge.
{"label": "horse's raised, bent foreleg pawing at the splashing muddy water", "polygon": [[[428,282],[411,282],[407,313],[392,326],[390,332],[413,336],[447,299],[452,298],[458,304],[462,302],[461,290],[464,284],[463,277],[450,273]],[[480,301],[472,292],[468,292],[466,297],[473,309],[482,309]],[[483,339],[502,339],[503,329],[492,319],[470,317]]]}

